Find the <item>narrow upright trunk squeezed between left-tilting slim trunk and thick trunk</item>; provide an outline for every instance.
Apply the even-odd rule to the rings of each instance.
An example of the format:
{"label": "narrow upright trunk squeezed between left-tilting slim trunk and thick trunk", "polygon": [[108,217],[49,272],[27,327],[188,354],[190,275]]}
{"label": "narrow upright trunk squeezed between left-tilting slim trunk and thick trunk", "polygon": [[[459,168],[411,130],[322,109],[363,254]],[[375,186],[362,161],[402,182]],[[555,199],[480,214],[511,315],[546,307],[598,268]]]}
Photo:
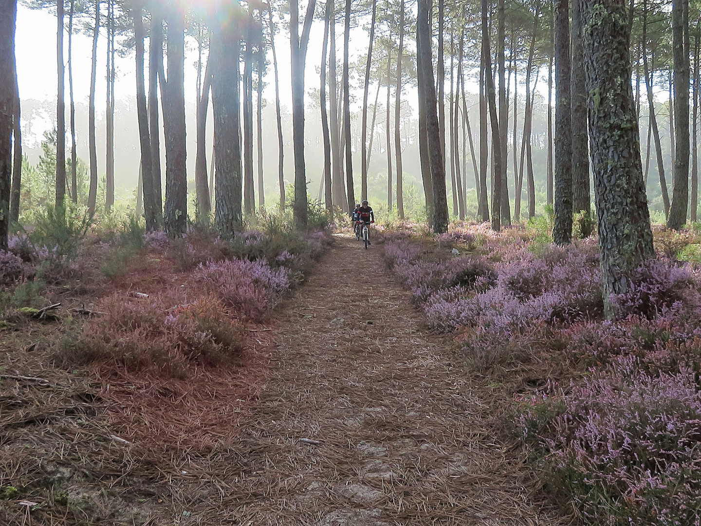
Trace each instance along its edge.
{"label": "narrow upright trunk squeezed between left-tilting slim trunk and thick trunk", "polygon": [[[154,185],[154,217],[163,224],[163,183],[161,182],[161,127],[158,124],[158,76],[163,70],[163,19],[151,8],[149,37],[149,130],[151,135],[151,177]],[[163,88],[163,86],[161,86]]]}

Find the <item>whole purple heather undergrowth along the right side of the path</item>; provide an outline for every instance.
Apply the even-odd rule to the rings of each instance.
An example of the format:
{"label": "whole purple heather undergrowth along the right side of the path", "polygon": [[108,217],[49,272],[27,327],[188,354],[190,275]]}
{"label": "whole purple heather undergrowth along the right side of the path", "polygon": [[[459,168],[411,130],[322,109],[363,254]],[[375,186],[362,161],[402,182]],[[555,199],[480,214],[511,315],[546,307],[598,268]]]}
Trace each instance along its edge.
{"label": "whole purple heather undergrowth along the right side of the path", "polygon": [[559,248],[549,227],[388,232],[383,253],[468,367],[513,379],[509,428],[557,501],[592,524],[700,524],[701,239],[655,227],[604,321],[597,239]]}

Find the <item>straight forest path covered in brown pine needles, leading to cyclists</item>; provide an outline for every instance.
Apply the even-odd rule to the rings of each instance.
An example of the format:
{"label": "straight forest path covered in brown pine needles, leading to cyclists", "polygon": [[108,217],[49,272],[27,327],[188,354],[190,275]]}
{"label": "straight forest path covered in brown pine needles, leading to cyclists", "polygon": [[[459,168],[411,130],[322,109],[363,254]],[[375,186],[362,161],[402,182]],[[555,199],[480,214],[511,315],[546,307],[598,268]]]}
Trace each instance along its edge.
{"label": "straight forest path covered in brown pine needles, leading to cyclists", "polygon": [[471,379],[440,338],[421,331],[420,313],[385,270],[379,248],[337,236],[282,307],[273,329],[278,363],[231,445],[236,459],[228,471],[238,476],[233,491],[222,493],[220,518],[314,526],[559,523],[532,503],[532,474],[496,437],[493,410],[481,399],[489,391],[484,381]]}

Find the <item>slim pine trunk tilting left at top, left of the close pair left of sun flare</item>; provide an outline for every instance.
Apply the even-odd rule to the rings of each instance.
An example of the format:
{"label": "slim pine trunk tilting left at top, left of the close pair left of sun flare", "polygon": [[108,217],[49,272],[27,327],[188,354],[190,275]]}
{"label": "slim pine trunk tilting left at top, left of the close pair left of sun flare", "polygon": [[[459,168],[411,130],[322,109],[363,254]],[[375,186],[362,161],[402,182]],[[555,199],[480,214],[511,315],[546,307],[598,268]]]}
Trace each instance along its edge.
{"label": "slim pine trunk tilting left at top, left of the close pair left of sun flare", "polygon": [[144,20],[142,6],[138,5],[132,12],[134,17],[134,34],[136,39],[136,103],[139,120],[139,146],[141,147],[141,179],[144,198],[144,217],[147,231],[158,229],[158,207],[156,206],[156,189],[152,173],[151,137],[149,137],[149,110],[146,103],[146,86],[144,83]]}

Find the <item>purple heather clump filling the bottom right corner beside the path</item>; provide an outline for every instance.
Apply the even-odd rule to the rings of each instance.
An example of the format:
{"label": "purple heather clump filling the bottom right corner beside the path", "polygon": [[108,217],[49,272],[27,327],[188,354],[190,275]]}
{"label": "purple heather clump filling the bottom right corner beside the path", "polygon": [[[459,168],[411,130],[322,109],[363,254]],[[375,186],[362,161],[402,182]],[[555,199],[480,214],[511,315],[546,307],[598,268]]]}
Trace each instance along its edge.
{"label": "purple heather clump filling the bottom right corner beside the path", "polygon": [[698,373],[637,370],[622,359],[569,393],[533,397],[522,403],[519,431],[552,473],[551,489],[587,522],[697,525]]}

